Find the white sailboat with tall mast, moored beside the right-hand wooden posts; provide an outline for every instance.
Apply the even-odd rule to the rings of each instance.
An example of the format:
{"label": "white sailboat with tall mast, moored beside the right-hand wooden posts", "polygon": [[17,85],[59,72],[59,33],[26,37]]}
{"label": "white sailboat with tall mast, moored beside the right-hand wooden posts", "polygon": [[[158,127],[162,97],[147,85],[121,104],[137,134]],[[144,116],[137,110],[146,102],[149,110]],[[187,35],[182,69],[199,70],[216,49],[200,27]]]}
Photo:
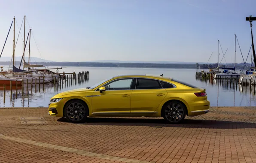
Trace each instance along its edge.
{"label": "white sailboat with tall mast, moored beside the right-hand wooden posts", "polygon": [[[235,34],[235,54],[236,54],[236,34]],[[224,69],[223,72],[215,74],[214,78],[240,78],[241,76],[240,73],[235,72],[235,66],[234,68],[223,68],[223,69]]]}

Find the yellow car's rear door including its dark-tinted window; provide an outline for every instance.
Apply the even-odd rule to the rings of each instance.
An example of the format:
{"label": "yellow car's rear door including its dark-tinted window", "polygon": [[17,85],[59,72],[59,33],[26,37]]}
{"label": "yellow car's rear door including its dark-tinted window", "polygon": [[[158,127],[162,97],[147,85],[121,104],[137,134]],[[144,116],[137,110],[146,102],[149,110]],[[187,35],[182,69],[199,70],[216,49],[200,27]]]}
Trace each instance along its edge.
{"label": "yellow car's rear door including its dark-tinted window", "polygon": [[158,80],[137,78],[131,94],[131,114],[154,113],[166,95],[167,91]]}

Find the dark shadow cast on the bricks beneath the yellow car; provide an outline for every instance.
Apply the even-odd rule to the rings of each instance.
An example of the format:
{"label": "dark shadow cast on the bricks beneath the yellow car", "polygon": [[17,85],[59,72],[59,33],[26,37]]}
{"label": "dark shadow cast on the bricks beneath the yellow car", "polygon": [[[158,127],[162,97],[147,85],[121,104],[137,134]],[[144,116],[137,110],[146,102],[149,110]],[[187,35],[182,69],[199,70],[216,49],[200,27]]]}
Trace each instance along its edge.
{"label": "dark shadow cast on the bricks beneath the yellow car", "polygon": [[[67,122],[66,118],[59,118],[58,121]],[[72,123],[76,124],[76,123]],[[149,127],[185,127],[185,128],[214,128],[214,129],[237,129],[256,128],[256,123],[216,121],[216,120],[194,120],[185,119],[181,124],[167,124],[164,119],[146,118],[91,118],[88,117],[82,125],[114,125],[114,126],[149,126]],[[81,125],[80,124],[80,125]]]}

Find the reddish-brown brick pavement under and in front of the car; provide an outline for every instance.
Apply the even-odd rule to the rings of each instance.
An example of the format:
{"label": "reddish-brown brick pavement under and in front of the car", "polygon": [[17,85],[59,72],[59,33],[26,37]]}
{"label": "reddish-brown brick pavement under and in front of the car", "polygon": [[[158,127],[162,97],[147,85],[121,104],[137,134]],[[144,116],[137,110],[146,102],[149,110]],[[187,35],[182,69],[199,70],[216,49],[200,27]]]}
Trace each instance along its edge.
{"label": "reddish-brown brick pavement under and in front of the car", "polygon": [[[49,124],[21,124],[19,117]],[[211,108],[183,124],[162,118],[88,118],[46,108],[0,109],[0,163],[256,163],[256,108]]]}

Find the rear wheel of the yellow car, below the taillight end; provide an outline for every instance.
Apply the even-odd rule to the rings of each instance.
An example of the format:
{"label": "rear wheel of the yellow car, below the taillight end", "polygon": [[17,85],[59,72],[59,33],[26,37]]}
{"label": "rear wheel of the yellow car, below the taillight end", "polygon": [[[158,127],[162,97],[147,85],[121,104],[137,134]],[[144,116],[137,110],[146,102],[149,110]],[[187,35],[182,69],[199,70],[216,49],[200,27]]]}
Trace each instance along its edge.
{"label": "rear wheel of the yellow car, below the taillight end", "polygon": [[186,106],[179,101],[170,101],[162,107],[163,117],[170,124],[180,124],[186,117]]}

